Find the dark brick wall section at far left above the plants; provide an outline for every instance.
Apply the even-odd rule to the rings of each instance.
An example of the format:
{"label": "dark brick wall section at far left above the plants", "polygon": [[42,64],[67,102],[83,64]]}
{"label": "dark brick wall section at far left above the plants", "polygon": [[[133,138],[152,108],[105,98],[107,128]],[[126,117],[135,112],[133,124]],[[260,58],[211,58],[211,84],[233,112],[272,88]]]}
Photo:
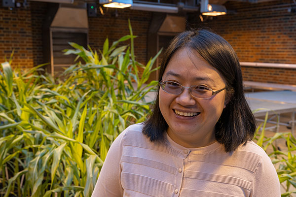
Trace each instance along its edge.
{"label": "dark brick wall section at far left above the plants", "polygon": [[33,43],[30,9],[0,7],[0,62],[14,49],[14,67],[32,67]]}

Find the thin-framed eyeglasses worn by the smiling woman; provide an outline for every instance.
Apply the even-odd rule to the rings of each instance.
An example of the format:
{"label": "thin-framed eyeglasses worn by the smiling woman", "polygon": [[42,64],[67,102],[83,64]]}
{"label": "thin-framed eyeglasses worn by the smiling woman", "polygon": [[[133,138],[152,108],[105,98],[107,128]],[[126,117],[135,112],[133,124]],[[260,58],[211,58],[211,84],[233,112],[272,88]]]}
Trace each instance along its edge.
{"label": "thin-framed eyeglasses worn by the smiling woman", "polygon": [[210,99],[214,95],[217,95],[222,90],[226,89],[226,87],[224,87],[221,90],[217,90],[214,92],[211,88],[208,88],[206,86],[186,87],[175,81],[161,81],[159,82],[159,86],[162,88],[162,90],[164,90],[164,92],[172,95],[180,95],[181,93],[183,93],[184,89],[188,89],[190,95],[197,99]]}

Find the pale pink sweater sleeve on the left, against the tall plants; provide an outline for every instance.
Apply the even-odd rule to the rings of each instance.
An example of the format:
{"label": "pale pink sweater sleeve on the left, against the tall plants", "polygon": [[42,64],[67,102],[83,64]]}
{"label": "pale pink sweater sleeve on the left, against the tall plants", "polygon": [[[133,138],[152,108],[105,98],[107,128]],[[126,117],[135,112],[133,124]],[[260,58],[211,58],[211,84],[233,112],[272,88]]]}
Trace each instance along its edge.
{"label": "pale pink sweater sleeve on the left, against the tall plants", "polygon": [[125,131],[112,143],[91,197],[122,197],[120,159]]}

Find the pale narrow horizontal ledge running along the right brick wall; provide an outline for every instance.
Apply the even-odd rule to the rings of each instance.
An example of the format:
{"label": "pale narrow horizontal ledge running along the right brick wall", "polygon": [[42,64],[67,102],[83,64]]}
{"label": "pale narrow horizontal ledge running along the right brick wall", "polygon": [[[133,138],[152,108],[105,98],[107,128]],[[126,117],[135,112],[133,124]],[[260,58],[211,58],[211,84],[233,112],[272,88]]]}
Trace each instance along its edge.
{"label": "pale narrow horizontal ledge running along the right brick wall", "polygon": [[290,90],[296,92],[296,85],[290,84],[278,84],[278,83],[263,83],[263,82],[256,82],[256,81],[244,81],[244,89],[245,90],[252,90],[255,89],[259,90]]}

